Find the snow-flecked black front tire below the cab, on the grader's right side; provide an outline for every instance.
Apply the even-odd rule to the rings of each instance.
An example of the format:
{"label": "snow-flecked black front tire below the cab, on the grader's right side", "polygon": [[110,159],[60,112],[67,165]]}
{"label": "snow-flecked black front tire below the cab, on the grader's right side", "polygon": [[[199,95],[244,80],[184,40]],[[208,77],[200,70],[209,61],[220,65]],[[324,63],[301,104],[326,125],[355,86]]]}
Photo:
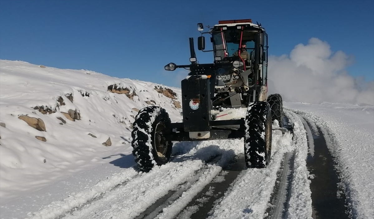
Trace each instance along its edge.
{"label": "snow-flecked black front tire below the cab, on the grader's right side", "polygon": [[272,114],[267,102],[248,105],[245,116],[244,157],[248,168],[264,168],[272,151]]}

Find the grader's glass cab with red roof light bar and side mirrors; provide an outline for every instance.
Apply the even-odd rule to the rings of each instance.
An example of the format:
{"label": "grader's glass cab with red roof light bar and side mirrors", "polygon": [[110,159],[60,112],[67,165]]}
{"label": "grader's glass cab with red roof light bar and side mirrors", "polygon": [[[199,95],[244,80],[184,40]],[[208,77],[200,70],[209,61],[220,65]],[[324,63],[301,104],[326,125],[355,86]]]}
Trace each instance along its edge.
{"label": "grader's glass cab with red roof light bar and side mirrors", "polygon": [[[253,24],[252,19],[218,21],[218,24],[203,31],[203,24],[197,24],[202,36],[198,37],[198,49],[213,52],[215,63],[233,63],[234,68],[250,70],[258,84],[267,83],[267,34],[261,24]],[[204,34],[210,34],[212,50],[205,50]],[[242,48],[245,44],[245,48]],[[248,60],[241,53],[248,52]],[[239,63],[238,63],[239,62]],[[229,71],[228,69],[226,71]]]}

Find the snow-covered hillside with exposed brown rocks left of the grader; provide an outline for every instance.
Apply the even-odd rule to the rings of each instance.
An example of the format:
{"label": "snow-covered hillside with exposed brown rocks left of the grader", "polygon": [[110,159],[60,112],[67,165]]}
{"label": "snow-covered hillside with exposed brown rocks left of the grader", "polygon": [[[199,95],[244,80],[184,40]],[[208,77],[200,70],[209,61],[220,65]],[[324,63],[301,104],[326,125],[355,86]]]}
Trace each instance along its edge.
{"label": "snow-covered hillside with exposed brown rocks left of the grader", "polygon": [[[124,93],[110,92],[113,85]],[[107,163],[109,155],[129,154],[139,109],[162,106],[172,121],[181,111],[178,88],[21,61],[0,61],[0,93],[1,202]],[[69,110],[80,118],[70,120]],[[42,131],[19,119],[22,115],[40,118],[44,127],[35,126]],[[110,146],[104,146],[109,138]]]}

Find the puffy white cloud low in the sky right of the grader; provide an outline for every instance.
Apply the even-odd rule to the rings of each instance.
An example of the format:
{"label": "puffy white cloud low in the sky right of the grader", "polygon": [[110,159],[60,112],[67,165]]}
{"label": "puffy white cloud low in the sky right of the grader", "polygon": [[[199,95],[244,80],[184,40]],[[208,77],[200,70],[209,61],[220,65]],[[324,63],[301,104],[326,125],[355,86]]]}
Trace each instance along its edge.
{"label": "puffy white cloud low in the sky right of the grader", "polygon": [[311,38],[288,55],[269,57],[269,93],[287,102],[343,102],[374,105],[374,81],[347,74],[353,57],[333,53],[327,42]]}

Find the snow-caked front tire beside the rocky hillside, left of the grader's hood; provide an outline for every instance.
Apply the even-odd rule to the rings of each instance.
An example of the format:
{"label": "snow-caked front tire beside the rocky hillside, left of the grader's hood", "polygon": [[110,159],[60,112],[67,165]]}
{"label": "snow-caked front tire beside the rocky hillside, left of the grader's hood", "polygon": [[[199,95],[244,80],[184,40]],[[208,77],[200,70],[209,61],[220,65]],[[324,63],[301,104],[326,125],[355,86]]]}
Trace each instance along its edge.
{"label": "snow-caked front tire beside the rocky hillside, left of the grader's hood", "polygon": [[169,114],[161,107],[145,107],[138,112],[131,132],[131,146],[141,171],[149,172],[154,165],[169,162],[172,142],[163,134],[170,123]]}

